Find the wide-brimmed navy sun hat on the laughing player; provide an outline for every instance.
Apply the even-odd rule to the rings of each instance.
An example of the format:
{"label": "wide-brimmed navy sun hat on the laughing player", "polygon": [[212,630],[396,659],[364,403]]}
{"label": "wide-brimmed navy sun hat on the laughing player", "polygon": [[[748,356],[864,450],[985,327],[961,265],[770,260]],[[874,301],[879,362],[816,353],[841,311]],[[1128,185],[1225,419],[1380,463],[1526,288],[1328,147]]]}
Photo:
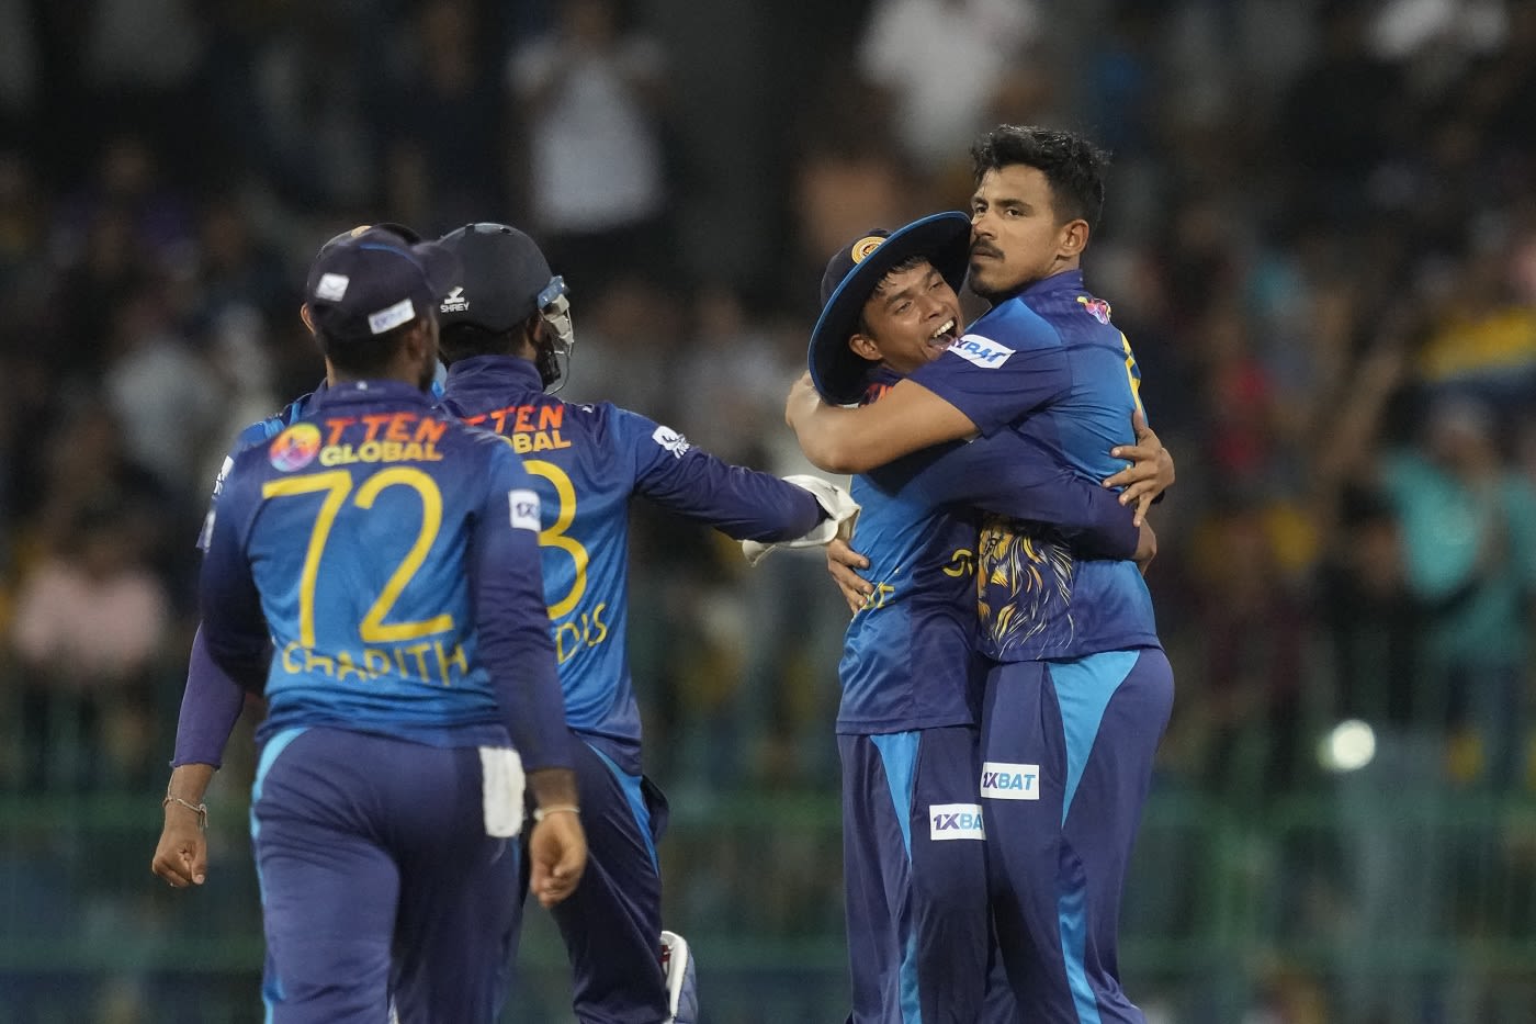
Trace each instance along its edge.
{"label": "wide-brimmed navy sun hat on the laughing player", "polygon": [[826,401],[848,406],[863,397],[869,360],[848,347],[859,314],[891,268],[923,257],[960,291],[971,261],[971,217],[960,211],[914,220],[895,231],[868,231],[826,261],[822,315],[811,331],[811,383]]}

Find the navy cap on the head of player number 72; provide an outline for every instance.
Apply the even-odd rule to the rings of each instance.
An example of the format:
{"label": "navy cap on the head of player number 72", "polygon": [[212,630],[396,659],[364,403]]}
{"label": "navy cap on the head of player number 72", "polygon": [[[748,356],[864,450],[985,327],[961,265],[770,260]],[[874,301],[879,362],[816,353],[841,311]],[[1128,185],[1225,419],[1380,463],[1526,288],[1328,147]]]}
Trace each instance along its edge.
{"label": "navy cap on the head of player number 72", "polygon": [[398,224],[343,232],[319,248],[304,301],[330,341],[367,341],[433,314],[458,274],[453,254],[435,241],[412,241]]}

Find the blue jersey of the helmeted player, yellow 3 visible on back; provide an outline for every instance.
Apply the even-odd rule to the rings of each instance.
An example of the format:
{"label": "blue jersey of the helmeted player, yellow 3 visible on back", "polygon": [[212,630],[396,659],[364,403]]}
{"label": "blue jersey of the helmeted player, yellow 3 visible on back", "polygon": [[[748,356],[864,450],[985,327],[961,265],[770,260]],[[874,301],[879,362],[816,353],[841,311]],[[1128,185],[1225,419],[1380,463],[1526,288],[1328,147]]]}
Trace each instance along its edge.
{"label": "blue jersey of the helmeted player, yellow 3 visible on back", "polygon": [[823,518],[803,487],[723,463],[636,412],[545,395],[524,358],[459,360],[442,407],[502,435],[533,477],[565,720],[578,732],[641,738],[625,640],[633,495],[737,540],[791,540]]}

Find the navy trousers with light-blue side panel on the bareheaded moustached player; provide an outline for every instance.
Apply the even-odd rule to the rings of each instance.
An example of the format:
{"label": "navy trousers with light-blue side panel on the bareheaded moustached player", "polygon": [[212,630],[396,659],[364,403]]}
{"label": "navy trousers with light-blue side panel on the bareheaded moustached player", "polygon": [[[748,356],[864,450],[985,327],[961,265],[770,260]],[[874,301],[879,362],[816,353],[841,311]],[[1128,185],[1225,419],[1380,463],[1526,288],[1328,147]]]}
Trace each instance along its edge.
{"label": "navy trousers with light-blue side panel on the bareheaded moustached player", "polygon": [[1174,707],[1157,647],[994,664],[982,807],[997,939],[1032,1024],[1144,1024],[1120,989],[1126,864]]}

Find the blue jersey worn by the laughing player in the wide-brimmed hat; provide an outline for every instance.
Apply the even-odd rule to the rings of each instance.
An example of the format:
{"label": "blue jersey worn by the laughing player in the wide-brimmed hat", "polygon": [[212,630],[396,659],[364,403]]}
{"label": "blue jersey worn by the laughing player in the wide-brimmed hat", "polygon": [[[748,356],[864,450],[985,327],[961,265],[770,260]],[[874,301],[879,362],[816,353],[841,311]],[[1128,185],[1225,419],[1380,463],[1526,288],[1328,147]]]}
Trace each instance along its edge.
{"label": "blue jersey worn by the laughing player in the wide-brimmed hat", "polygon": [[[882,372],[865,394],[894,384]],[[1114,492],[1011,434],[946,444],[854,477],[854,547],[874,592],[848,626],[837,732],[975,723],[975,507],[1058,524],[1081,557],[1129,558],[1140,530]]]}

